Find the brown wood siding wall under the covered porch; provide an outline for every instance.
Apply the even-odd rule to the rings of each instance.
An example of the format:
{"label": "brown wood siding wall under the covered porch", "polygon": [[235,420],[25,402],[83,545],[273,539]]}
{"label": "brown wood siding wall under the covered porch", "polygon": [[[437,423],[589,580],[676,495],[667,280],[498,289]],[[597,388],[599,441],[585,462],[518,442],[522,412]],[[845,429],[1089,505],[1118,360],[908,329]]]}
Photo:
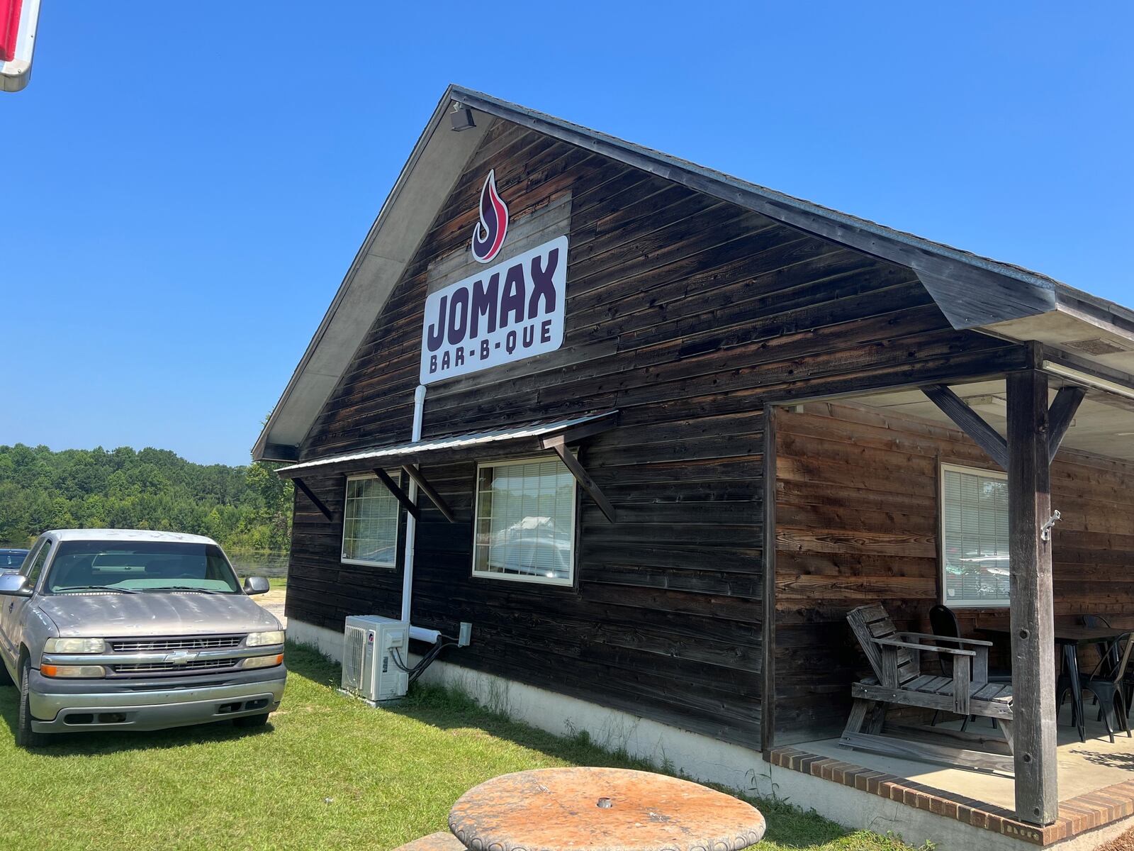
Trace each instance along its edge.
{"label": "brown wood siding wall under the covered porch", "polygon": [[[833,403],[778,412],[777,456],[776,741],[788,744],[846,723],[849,684],[866,667],[848,610],[881,601],[899,629],[930,631],[939,464],[999,467],[957,429]],[[1134,626],[1134,465],[1064,450],[1051,491],[1064,516],[1056,622],[1101,614]],[[1004,607],[956,612],[970,635],[1008,618]]]}

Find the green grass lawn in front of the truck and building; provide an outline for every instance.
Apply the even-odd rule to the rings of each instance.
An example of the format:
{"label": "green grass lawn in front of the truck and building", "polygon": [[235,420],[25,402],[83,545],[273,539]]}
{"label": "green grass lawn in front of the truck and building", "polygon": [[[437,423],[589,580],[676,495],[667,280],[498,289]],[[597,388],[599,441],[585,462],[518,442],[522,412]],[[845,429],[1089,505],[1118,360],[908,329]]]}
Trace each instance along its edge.
{"label": "green grass lawn in front of the truck and building", "polygon": [[[336,692],[337,665],[288,647],[291,674],[272,723],[160,733],[74,734],[36,752],[12,740],[16,692],[0,688],[5,849],[391,849],[445,828],[467,789],[507,772],[564,765],[645,767],[509,722],[442,689],[372,709]],[[814,815],[754,801],[756,848],[903,851]]]}

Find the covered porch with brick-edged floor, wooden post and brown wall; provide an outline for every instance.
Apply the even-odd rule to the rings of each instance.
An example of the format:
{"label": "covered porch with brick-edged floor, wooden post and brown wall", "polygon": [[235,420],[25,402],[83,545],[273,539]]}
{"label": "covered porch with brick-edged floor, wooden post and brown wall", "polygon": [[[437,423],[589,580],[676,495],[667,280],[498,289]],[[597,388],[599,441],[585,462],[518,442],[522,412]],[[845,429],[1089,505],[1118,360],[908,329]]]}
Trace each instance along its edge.
{"label": "covered porch with brick-edged floor, wooden post and brown wall", "polygon": [[[1118,730],[1110,741],[1091,693],[1085,741],[1073,701],[1057,706],[1060,673],[1080,680],[1060,635],[1112,627],[1114,640],[1068,651],[1086,676],[1134,630],[1129,374],[1032,344],[1015,372],[780,405],[771,419],[772,766],[1036,844],[1134,816],[1134,739]],[[954,676],[932,651],[899,649],[892,682],[878,659],[872,672],[847,624],[871,604],[897,638],[934,633],[930,609],[945,605],[960,637],[990,642],[988,663],[964,660],[965,676],[975,703],[999,675],[1005,685],[982,693],[1010,694],[1001,723],[975,717],[962,732],[960,715],[904,699],[911,664]],[[852,703],[861,682],[885,713],[869,730],[877,742],[840,736],[871,703]],[[950,752],[967,767],[947,765]]]}

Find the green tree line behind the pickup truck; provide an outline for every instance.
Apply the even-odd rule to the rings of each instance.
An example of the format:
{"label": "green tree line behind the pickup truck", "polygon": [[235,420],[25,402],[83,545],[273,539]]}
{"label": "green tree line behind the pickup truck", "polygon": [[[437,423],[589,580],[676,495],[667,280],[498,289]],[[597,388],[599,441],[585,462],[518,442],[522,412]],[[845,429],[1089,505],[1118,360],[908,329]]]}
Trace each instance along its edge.
{"label": "green tree line behind the pickup truck", "polygon": [[291,482],[262,462],[193,464],[168,449],[0,446],[0,545],[45,529],[161,529],[284,551]]}

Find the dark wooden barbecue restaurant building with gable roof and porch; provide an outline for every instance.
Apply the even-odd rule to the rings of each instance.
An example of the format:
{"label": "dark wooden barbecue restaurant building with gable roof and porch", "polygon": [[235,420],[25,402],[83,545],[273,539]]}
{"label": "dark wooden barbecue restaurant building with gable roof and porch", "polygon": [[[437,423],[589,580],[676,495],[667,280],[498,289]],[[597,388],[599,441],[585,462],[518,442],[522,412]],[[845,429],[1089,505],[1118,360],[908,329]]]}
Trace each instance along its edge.
{"label": "dark wooden barbecue restaurant building with gable roof and porch", "polygon": [[999,832],[1050,844],[1086,829],[1056,631],[1134,626],[1131,372],[1118,305],[454,87],[254,455],[297,486],[294,638],[471,622],[445,665],[742,770],[847,725],[852,609],[1010,626]]}

